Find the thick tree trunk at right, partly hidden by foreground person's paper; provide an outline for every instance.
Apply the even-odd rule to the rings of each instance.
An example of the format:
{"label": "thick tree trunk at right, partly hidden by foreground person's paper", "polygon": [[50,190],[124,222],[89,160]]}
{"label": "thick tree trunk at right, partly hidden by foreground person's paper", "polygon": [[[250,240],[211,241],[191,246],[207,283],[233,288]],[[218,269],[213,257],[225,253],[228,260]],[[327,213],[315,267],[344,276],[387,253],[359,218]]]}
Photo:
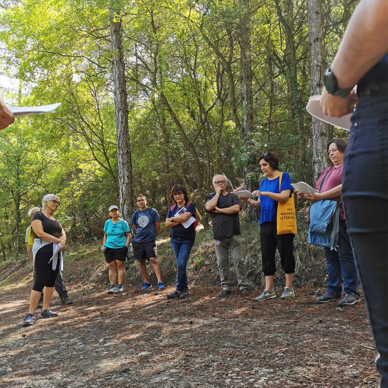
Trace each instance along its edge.
{"label": "thick tree trunk at right, partly hidden by foreground person's paper", "polygon": [[[310,50],[310,95],[317,95],[322,91],[326,67],[322,0],[307,0],[307,22]],[[316,182],[329,163],[326,146],[330,136],[330,125],[315,117],[311,117],[311,124],[312,168]]]}

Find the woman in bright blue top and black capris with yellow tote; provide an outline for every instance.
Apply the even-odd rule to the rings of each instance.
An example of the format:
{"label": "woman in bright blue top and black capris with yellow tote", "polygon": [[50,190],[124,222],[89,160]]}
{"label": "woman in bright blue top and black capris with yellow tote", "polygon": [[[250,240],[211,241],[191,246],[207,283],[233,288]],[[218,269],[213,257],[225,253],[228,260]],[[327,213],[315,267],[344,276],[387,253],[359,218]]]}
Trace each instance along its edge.
{"label": "woman in bright blue top and black capris with yellow tote", "polygon": [[[276,216],[278,203],[287,202],[293,192],[291,178],[287,172],[279,171],[279,158],[275,153],[266,152],[264,155],[261,155],[259,157],[259,164],[265,178],[261,181],[259,190],[252,193],[255,196],[259,196],[258,200],[240,198],[254,208],[260,209],[260,245],[261,261],[265,275],[265,289],[256,300],[260,302],[276,298],[274,290],[276,247],[279,251],[281,265],[286,276],[286,286],[281,298],[288,299],[295,296],[292,286],[295,271],[293,253],[293,239],[295,235],[293,233],[278,234]],[[293,216],[295,217],[295,214]]]}

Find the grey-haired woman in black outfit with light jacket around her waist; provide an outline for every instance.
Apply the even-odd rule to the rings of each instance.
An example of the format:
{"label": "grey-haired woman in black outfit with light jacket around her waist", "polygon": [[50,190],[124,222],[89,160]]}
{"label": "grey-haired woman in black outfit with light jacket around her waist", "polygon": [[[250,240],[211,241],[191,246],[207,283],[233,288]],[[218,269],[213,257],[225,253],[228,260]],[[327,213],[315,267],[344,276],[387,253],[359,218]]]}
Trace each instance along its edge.
{"label": "grey-haired woman in black outfit with light jacket around her waist", "polygon": [[23,326],[30,326],[34,321],[34,311],[44,289],[42,318],[56,317],[58,313],[49,309],[54,284],[58,272],[63,269],[63,251],[66,247],[66,235],[54,212],[60,205],[57,195],[46,194],[42,200],[42,211],[32,216],[31,227],[34,233],[32,245],[32,265],[35,281],[30,295],[30,308]]}

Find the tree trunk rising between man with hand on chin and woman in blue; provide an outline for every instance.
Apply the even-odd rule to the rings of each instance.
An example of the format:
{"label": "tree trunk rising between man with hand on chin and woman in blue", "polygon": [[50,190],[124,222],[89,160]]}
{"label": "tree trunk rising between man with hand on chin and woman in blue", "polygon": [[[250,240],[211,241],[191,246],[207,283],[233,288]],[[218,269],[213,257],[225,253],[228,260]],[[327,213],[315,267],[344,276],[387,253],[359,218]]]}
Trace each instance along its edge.
{"label": "tree trunk rising between man with hand on chin and woman in blue", "polygon": [[[251,26],[250,26],[250,0],[240,0],[243,16],[240,19],[240,83],[242,100],[242,139],[246,142],[253,131],[253,94],[252,94],[252,59],[251,59]],[[255,166],[248,155],[244,163],[245,189],[253,191],[257,189],[257,182],[252,178]],[[257,221],[258,212],[253,207],[246,208],[248,221]]]}

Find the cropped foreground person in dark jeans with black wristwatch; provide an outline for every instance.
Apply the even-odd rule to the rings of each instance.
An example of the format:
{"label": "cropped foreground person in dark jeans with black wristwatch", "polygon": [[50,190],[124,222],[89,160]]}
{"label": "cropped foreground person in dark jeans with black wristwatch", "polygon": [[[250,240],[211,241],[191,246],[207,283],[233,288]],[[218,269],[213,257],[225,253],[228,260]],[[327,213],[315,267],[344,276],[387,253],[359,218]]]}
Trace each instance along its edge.
{"label": "cropped foreground person in dark jeans with black wristwatch", "polygon": [[359,99],[344,158],[342,199],[388,387],[388,1],[362,0],[324,78],[323,113],[341,117]]}

